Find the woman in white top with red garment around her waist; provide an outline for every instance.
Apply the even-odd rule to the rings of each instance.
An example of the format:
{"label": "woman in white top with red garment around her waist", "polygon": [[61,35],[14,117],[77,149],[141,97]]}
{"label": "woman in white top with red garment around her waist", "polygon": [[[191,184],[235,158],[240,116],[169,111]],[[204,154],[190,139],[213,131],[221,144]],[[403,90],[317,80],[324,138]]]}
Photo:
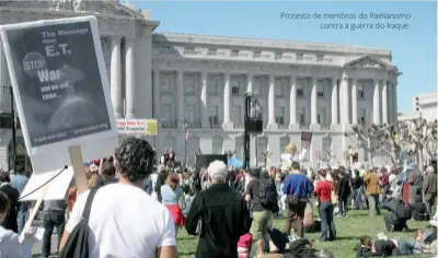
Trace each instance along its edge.
{"label": "woman in white top with red garment around her waist", "polygon": [[[175,233],[181,226],[184,226],[185,216],[183,209],[185,209],[185,199],[183,188],[180,186],[180,176],[171,174],[163,186],[161,186],[162,203],[168,208],[172,214],[173,223],[175,223]],[[180,207],[182,203],[182,208]]]}

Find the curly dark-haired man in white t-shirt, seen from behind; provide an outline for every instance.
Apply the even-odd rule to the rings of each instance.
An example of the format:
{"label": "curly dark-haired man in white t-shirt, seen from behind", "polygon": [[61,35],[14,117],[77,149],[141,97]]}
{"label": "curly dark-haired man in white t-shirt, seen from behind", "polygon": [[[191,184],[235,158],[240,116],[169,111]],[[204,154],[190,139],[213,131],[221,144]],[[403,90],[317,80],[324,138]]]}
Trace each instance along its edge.
{"label": "curly dark-haired man in white t-shirt, seen from behind", "polygon": [[[178,257],[170,212],[141,189],[153,171],[154,155],[149,143],[137,138],[128,138],[116,150],[119,181],[100,188],[91,208],[91,258]],[[80,222],[88,195],[78,197],[60,249]]]}

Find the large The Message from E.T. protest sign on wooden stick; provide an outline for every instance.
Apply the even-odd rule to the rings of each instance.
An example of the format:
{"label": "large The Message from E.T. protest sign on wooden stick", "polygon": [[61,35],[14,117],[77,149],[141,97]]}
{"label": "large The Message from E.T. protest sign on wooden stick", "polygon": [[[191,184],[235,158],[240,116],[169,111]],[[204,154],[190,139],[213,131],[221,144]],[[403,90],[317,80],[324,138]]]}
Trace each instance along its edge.
{"label": "large The Message from E.T. protest sign on wooden stick", "polygon": [[[83,159],[112,155],[118,143],[96,19],[8,24],[0,37],[34,176],[68,166],[83,192]],[[35,210],[51,185],[39,189]]]}

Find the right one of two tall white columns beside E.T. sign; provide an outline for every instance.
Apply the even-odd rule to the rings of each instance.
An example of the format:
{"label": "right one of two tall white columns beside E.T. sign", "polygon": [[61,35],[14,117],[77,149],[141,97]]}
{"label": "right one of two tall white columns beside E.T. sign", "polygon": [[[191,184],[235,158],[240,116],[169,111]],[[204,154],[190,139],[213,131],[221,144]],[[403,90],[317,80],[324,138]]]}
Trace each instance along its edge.
{"label": "right one of two tall white columns beside E.T. sign", "polygon": [[125,97],[126,97],[126,118],[135,118],[135,91],[136,91],[136,67],[135,67],[135,42],[132,38],[125,38]]}

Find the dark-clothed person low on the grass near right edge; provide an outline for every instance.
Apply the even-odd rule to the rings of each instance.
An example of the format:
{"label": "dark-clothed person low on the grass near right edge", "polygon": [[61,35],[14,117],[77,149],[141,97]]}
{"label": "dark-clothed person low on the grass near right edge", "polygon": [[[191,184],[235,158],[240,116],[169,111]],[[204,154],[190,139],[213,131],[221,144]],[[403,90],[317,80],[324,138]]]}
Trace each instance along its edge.
{"label": "dark-clothed person low on the grass near right edge", "polygon": [[382,209],[390,211],[384,215],[387,230],[407,232],[406,221],[412,218],[411,206],[403,201],[401,191],[394,191],[390,198],[391,200],[382,203]]}

